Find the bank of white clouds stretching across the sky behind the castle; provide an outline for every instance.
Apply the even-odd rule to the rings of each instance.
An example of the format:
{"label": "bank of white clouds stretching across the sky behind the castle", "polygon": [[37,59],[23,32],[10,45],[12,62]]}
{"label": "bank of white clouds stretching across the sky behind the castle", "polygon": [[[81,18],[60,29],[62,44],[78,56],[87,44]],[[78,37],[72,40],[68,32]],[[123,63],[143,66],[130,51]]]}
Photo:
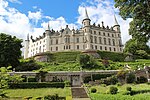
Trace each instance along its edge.
{"label": "bank of white clouds stretching across the sky behind the castle", "polygon": [[[19,2],[18,0],[9,1]],[[88,3],[88,5],[86,3]],[[83,5],[87,8],[91,23],[101,24],[101,22],[104,21],[105,26],[113,26],[114,12],[118,12],[118,9],[113,7],[111,0],[87,0],[86,3],[82,3],[78,8],[79,16],[77,22],[67,23],[65,18],[61,16],[58,18],[44,16],[42,10],[38,9],[36,6],[33,6],[33,9],[37,11],[28,11],[28,15],[25,15],[15,8],[10,8],[7,1],[0,0],[0,32],[9,33],[25,39],[28,33],[34,37],[42,35],[48,23],[50,24],[51,29],[56,31],[65,28],[66,25],[69,25],[70,29],[73,27],[77,29],[81,27],[84,18],[85,9]],[[128,29],[131,19],[124,21],[118,14],[116,14],[116,17],[121,26],[123,43],[125,43],[130,38]],[[37,28],[37,23],[40,24],[41,27]]]}

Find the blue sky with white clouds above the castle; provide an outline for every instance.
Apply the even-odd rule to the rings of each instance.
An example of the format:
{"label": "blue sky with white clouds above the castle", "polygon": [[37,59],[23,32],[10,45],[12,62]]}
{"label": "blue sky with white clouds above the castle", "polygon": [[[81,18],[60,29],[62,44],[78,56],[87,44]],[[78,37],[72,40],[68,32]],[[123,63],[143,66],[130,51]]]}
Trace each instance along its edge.
{"label": "blue sky with white clouds above the castle", "polygon": [[50,28],[60,30],[79,29],[87,9],[91,23],[105,26],[114,25],[114,14],[121,27],[122,42],[125,44],[131,37],[128,35],[132,19],[123,20],[113,0],[0,0],[0,33],[7,33],[26,39],[27,34],[39,37],[48,23]]}

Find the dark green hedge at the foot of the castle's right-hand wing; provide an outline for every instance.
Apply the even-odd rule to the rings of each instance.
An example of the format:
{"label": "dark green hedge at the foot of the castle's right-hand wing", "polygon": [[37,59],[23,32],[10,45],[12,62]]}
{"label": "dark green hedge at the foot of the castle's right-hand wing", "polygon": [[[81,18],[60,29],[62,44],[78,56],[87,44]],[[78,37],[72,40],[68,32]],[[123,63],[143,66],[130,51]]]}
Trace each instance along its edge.
{"label": "dark green hedge at the foot of the castle's right-hand wing", "polygon": [[108,52],[108,51],[97,51],[102,59],[108,59],[112,61],[124,61],[126,55],[123,53],[117,52]]}

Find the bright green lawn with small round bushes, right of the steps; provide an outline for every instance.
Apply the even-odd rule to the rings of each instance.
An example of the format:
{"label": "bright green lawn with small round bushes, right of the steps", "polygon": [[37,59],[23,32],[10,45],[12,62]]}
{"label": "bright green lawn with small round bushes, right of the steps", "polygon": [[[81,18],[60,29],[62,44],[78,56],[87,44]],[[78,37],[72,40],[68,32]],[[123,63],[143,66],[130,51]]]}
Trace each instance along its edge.
{"label": "bright green lawn with small round bushes, right of the steps", "polygon": [[126,92],[126,87],[128,86],[132,87],[132,90],[150,90],[150,85],[148,84],[125,84],[123,86],[115,85],[118,88],[118,93],[115,95],[107,94],[110,86],[92,86],[91,88],[97,89],[97,93],[90,94],[92,100],[150,100],[150,93],[136,94],[133,96],[123,95]]}

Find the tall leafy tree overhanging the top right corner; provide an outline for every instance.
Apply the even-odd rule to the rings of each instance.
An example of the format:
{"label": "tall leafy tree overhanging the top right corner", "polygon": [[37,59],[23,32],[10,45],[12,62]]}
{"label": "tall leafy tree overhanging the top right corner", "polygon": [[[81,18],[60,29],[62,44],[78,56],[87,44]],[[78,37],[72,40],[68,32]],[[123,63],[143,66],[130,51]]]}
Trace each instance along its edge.
{"label": "tall leafy tree overhanging the top right corner", "polygon": [[129,34],[137,40],[148,42],[150,39],[150,1],[149,0],[115,0],[115,7],[123,19],[133,18]]}

